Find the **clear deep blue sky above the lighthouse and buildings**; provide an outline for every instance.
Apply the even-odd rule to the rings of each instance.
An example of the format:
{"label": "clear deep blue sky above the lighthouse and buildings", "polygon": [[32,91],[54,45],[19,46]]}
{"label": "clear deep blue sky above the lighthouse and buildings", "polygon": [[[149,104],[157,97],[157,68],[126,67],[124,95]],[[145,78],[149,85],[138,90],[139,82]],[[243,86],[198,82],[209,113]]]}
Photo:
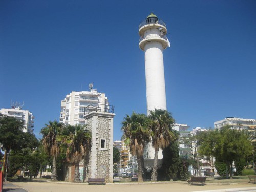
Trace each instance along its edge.
{"label": "clear deep blue sky above the lighthouse and buildings", "polygon": [[178,123],[213,127],[256,118],[256,1],[0,1],[0,108],[25,103],[37,137],[59,120],[71,91],[94,88],[125,114],[146,113],[138,26],[153,11],[167,25],[167,109]]}

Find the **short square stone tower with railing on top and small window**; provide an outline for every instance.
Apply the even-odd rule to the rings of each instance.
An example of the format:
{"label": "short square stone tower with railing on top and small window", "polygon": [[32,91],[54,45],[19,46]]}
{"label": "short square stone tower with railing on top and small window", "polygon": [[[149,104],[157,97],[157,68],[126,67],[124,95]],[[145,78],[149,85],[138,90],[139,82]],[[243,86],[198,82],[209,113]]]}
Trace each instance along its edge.
{"label": "short square stone tower with railing on top and small window", "polygon": [[84,115],[88,129],[92,131],[92,149],[87,166],[87,178],[105,178],[107,183],[112,183],[113,118],[115,114],[109,106],[108,108],[104,106],[104,110],[98,109],[92,109],[90,113]]}

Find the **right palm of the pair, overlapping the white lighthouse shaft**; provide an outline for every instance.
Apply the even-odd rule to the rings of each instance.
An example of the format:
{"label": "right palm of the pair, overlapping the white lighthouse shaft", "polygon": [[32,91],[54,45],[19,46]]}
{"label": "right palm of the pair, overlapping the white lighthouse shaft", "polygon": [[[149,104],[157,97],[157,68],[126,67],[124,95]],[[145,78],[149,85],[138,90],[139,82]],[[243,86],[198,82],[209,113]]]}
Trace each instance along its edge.
{"label": "right palm of the pair, overlapping the white lighthouse shaft", "polygon": [[169,146],[170,142],[175,139],[172,132],[172,124],[175,120],[167,110],[155,109],[150,111],[148,116],[151,119],[150,128],[153,132],[152,146],[155,149],[154,164],[151,174],[151,181],[157,181],[157,160],[160,148]]}

